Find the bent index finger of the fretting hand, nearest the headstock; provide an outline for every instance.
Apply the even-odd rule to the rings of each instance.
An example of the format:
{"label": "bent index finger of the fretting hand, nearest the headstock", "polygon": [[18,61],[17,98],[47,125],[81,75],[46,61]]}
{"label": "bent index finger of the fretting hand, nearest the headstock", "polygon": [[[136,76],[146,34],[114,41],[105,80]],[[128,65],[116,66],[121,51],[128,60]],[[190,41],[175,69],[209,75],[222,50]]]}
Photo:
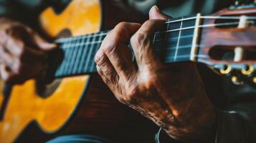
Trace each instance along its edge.
{"label": "bent index finger of the fretting hand, nearest the headstock", "polygon": [[132,36],[131,45],[139,68],[144,64],[158,64],[160,61],[153,50],[151,37],[162,25],[162,20],[148,20]]}

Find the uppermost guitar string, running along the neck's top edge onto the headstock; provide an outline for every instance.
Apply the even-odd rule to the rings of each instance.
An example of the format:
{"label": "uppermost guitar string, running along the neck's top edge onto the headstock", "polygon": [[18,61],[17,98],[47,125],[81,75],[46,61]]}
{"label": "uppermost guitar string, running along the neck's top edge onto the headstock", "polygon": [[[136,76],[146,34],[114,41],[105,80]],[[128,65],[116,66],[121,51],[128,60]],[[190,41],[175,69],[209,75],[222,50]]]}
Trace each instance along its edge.
{"label": "uppermost guitar string, running along the neck's top edge onto the headstock", "polygon": [[[200,19],[240,19],[241,16],[200,16]],[[187,20],[191,20],[191,19],[196,19],[196,16],[194,17],[190,17],[190,18],[186,18],[186,19],[178,19],[178,20],[174,20],[174,21],[166,21],[165,23],[168,24],[168,23],[174,23],[174,22],[177,22],[177,21],[187,21]],[[247,16],[247,20],[256,20],[256,16]],[[201,26],[204,26],[204,25],[201,25]],[[109,31],[109,30],[108,30]],[[100,35],[100,34],[108,34],[108,31],[102,31],[102,32],[105,32],[105,33],[96,33],[95,35]],[[57,39],[55,40],[55,42],[58,42],[58,41],[63,41],[63,40],[73,40],[74,38],[83,38],[86,36],[89,35],[89,34],[86,34],[86,35],[81,35],[81,36],[75,36],[75,37],[67,37],[67,38],[62,38],[62,39]]]}

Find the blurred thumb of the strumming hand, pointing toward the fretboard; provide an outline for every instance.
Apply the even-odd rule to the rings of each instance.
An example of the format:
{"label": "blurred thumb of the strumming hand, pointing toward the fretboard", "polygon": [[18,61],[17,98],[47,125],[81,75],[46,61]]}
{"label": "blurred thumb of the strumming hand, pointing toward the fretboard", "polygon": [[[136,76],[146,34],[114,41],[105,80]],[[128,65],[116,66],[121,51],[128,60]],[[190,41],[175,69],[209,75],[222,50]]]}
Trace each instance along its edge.
{"label": "blurred thumb of the strumming hand, pointing toward the fretboard", "polygon": [[43,39],[41,36],[39,36],[38,34],[34,34],[33,35],[33,39],[35,44],[37,44],[37,46],[39,47],[39,49],[43,49],[43,50],[51,50],[55,47],[57,47],[56,44],[51,44],[48,41],[46,41],[45,39]]}

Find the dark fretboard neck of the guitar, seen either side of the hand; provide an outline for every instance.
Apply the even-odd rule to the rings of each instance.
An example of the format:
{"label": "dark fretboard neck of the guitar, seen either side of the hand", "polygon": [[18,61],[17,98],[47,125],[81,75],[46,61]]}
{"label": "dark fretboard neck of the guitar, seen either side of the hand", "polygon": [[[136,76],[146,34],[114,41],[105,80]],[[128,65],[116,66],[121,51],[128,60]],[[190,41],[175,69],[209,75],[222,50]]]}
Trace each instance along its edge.
{"label": "dark fretboard neck of the guitar, seen either side of the hand", "polygon": [[[200,14],[169,19],[153,36],[156,54],[166,63],[195,61],[199,39]],[[50,69],[54,77],[67,77],[96,72],[94,57],[108,31],[57,39],[59,55],[50,62],[57,63]],[[132,53],[133,54],[133,53]],[[134,55],[133,55],[134,56]],[[57,62],[57,59],[61,59]],[[53,70],[54,69],[54,70]]]}

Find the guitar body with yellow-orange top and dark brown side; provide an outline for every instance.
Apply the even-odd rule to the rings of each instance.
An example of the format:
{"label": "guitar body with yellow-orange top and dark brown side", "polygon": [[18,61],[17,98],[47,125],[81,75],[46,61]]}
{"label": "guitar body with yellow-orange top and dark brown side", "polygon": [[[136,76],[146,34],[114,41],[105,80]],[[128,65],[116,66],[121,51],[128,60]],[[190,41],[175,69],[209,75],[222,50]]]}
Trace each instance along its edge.
{"label": "guitar body with yellow-orange top and dark brown side", "polygon": [[[103,21],[102,5],[100,0],[74,0],[60,14],[49,7],[39,16],[39,23],[52,38],[92,34],[110,25]],[[0,88],[2,105],[3,82]],[[29,80],[11,89],[0,121],[0,142],[14,142],[32,123],[47,134],[108,132],[123,119],[124,109],[96,75],[56,79],[47,86]]]}

